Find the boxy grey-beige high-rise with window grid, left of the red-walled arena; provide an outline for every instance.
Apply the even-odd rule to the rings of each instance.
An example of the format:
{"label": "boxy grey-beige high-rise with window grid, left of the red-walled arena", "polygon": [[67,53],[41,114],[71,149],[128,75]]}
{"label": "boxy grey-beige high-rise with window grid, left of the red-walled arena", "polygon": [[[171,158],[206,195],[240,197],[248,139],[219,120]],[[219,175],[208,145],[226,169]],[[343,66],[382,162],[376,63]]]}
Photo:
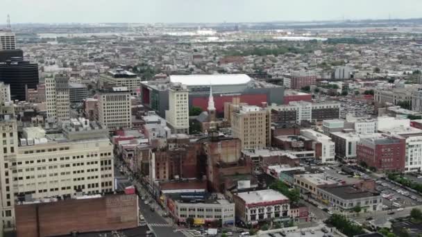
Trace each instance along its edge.
{"label": "boxy grey-beige high-rise with window grid, left of the red-walled arena", "polygon": [[99,94],[99,122],[110,130],[131,128],[132,112],[130,109],[130,92],[126,87],[113,87],[108,92]]}

